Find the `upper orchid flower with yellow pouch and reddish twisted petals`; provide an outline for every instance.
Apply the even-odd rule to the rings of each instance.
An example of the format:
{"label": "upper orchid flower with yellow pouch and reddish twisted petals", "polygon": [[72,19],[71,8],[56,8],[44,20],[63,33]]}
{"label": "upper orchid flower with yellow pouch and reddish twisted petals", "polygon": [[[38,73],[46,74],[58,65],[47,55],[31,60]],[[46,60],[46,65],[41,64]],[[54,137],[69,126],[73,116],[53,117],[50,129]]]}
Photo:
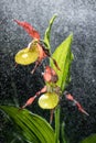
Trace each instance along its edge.
{"label": "upper orchid flower with yellow pouch and reddish twisted petals", "polygon": [[[21,22],[18,20],[14,20],[20,26],[22,26],[29,35],[33,38],[33,41],[29,44],[26,48],[21,50],[15,55],[15,62],[17,64],[21,65],[29,65],[35,62],[34,69],[31,72],[31,74],[34,73],[36,67],[41,65],[42,61],[45,57],[51,57],[50,51],[45,48],[41,44],[40,41],[40,33],[33,29],[28,22]],[[52,57],[51,57],[52,58]],[[54,65],[60,70],[60,67],[54,58],[52,58]]]}

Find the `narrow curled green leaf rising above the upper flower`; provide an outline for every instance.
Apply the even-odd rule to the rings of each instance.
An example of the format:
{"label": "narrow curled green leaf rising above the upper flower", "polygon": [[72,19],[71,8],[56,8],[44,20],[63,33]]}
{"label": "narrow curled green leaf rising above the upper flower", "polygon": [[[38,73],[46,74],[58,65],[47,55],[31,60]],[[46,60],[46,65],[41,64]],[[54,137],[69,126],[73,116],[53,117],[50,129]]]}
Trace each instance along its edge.
{"label": "narrow curled green leaf rising above the upper flower", "polygon": [[44,34],[44,42],[46,43],[49,50],[51,48],[51,45],[50,45],[51,29],[52,29],[52,25],[53,25],[53,22],[54,22],[55,18],[56,18],[56,14],[54,14],[52,16],[52,19],[50,20],[49,26],[47,26],[47,29],[45,31],[45,34]]}

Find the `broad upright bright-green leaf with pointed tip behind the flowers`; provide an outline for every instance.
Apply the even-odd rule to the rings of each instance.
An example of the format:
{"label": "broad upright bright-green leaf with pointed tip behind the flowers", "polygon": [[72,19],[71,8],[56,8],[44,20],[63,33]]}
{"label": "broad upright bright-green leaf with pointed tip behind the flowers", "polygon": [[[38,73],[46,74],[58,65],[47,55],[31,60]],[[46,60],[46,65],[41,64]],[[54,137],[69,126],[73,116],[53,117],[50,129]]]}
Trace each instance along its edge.
{"label": "broad upright bright-green leaf with pointed tip behind the flowers", "polygon": [[73,61],[73,54],[71,52],[72,40],[73,34],[71,34],[65,41],[63,41],[62,44],[56,47],[55,52],[52,55],[61,70],[58,70],[51,61],[51,66],[58,75],[57,86],[61,87],[62,91],[71,79],[70,68]]}

